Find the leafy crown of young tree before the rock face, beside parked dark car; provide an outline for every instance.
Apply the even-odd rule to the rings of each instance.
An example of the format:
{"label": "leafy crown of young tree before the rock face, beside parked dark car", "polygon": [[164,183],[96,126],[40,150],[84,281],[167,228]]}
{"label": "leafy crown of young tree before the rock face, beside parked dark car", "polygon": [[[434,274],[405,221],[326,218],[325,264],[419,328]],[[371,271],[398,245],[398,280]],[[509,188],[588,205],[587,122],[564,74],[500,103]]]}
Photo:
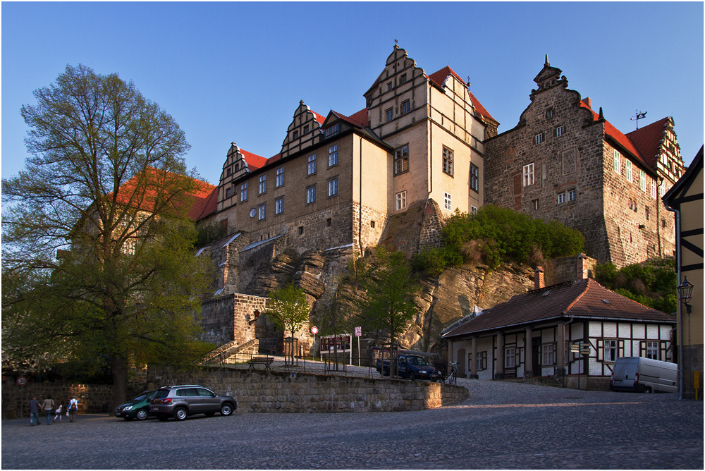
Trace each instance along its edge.
{"label": "leafy crown of young tree before the rock face, beside parked dark car", "polygon": [[374,257],[365,257],[358,275],[362,293],[357,300],[364,331],[384,332],[391,342],[403,334],[417,313],[414,302],[420,287],[403,252],[375,248]]}

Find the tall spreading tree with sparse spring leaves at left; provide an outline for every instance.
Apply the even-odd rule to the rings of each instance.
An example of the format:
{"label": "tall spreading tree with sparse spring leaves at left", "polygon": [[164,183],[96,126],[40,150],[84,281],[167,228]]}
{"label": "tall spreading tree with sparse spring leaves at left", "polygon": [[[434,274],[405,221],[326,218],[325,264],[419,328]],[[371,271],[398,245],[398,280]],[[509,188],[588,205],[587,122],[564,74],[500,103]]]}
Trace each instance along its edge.
{"label": "tall spreading tree with sparse spring leaves at left", "polygon": [[67,66],[34,96],[32,157],[2,181],[4,362],[104,361],[119,403],[131,361],[204,346],[191,313],[209,270],[187,217],[203,183],[176,121],[117,74]]}

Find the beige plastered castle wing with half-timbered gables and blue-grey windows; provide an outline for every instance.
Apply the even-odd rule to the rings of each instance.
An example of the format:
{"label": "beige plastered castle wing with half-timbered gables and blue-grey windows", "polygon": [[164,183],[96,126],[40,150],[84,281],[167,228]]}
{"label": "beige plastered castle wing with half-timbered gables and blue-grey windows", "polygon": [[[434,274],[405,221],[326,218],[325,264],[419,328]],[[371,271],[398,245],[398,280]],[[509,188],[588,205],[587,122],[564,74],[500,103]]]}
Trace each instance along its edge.
{"label": "beige plastered castle wing with half-timbered gables and blue-grey windows", "polygon": [[350,116],[300,102],[274,157],[233,142],[200,223],[242,233],[242,243],[276,238],[299,253],[364,251],[412,207],[443,217],[482,206],[483,142],[498,123],[458,74],[427,75],[395,46],[364,98]]}

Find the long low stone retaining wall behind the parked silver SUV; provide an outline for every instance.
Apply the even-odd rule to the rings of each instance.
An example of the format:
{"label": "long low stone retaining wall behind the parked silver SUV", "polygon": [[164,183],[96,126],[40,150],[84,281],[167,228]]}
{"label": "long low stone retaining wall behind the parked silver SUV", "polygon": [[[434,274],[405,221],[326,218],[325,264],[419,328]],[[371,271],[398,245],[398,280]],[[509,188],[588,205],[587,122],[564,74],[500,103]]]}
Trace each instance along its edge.
{"label": "long low stone retaining wall behind the parked silver SUV", "polygon": [[247,412],[396,412],[438,408],[468,398],[467,389],[429,381],[372,379],[310,373],[202,369],[176,372],[150,367],[149,383],[201,384],[228,391]]}

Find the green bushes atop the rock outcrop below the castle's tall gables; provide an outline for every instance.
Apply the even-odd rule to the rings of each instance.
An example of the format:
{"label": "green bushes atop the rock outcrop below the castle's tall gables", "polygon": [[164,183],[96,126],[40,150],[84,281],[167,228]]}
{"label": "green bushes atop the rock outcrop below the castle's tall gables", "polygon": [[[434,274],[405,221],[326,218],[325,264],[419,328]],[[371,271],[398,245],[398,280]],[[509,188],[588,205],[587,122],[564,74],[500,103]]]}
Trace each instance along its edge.
{"label": "green bushes atop the rock outcrop below the castle's tall gables", "polygon": [[446,267],[464,262],[484,262],[490,269],[501,263],[536,264],[544,258],[567,257],[582,252],[585,240],[575,229],[557,221],[546,223],[513,209],[487,205],[477,214],[450,216],[441,229],[443,247],[422,252],[415,267],[438,276]]}

